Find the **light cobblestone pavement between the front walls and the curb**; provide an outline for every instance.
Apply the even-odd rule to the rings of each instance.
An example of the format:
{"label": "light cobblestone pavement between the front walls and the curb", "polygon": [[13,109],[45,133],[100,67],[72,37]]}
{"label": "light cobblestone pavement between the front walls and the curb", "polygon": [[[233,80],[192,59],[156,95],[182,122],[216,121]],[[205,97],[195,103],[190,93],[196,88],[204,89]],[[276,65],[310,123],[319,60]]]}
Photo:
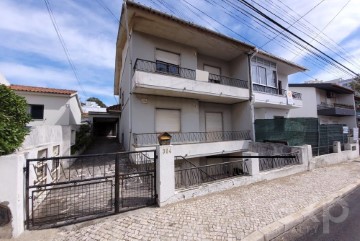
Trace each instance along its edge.
{"label": "light cobblestone pavement between the front walls and the curb", "polygon": [[239,240],[360,178],[344,163],[60,229],[54,240]]}

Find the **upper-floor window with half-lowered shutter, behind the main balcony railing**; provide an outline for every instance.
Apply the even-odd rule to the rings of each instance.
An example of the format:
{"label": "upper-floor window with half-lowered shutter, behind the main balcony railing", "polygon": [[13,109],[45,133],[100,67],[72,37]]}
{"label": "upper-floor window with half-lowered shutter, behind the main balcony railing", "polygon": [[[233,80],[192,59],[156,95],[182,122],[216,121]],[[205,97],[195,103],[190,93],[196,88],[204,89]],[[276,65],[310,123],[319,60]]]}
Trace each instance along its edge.
{"label": "upper-floor window with half-lowered shutter, behind the main balcony railing", "polygon": [[156,71],[179,75],[180,54],[156,49]]}

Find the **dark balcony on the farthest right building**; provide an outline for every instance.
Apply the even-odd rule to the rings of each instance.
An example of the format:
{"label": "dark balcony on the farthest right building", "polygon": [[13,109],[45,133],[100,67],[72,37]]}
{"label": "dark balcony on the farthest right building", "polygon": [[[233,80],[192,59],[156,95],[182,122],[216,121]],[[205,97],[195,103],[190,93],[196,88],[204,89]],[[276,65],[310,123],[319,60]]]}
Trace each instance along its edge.
{"label": "dark balcony on the farthest right building", "polygon": [[355,107],[345,104],[326,104],[321,103],[317,106],[318,115],[324,116],[355,116]]}

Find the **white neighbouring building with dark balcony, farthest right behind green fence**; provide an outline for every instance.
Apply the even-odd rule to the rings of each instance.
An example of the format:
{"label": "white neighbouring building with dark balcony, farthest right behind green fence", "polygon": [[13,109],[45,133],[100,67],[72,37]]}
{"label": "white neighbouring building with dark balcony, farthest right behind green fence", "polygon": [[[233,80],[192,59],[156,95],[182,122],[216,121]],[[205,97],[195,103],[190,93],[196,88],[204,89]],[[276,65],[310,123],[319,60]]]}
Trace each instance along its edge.
{"label": "white neighbouring building with dark balcony, farthest right behind green fence", "polygon": [[290,111],[290,117],[315,117],[320,124],[357,127],[354,91],[328,82],[290,84],[303,96],[304,107]]}

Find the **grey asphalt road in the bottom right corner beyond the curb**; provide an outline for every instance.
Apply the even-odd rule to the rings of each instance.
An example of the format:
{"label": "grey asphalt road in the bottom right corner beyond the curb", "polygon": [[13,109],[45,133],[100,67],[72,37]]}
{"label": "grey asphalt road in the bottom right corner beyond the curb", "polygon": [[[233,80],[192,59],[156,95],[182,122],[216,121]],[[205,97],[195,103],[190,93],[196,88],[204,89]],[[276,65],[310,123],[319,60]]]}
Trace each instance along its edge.
{"label": "grey asphalt road in the bottom right corner beyond the curb", "polygon": [[277,238],[292,241],[360,240],[360,188],[328,210]]}

